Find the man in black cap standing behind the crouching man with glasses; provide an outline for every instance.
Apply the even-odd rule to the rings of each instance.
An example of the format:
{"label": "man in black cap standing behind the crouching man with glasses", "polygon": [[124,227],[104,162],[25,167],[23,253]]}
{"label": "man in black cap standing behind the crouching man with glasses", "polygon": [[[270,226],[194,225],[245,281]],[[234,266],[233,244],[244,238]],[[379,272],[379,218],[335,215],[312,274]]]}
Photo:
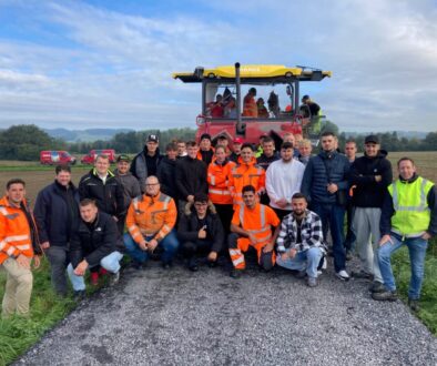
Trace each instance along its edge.
{"label": "man in black cap standing behind the crouching man with glasses", "polygon": [[144,149],[133,157],[131,173],[138,179],[141,192],[144,193],[144,182],[150,175],[156,175],[157,165],[162,160],[159,148],[159,139],[150,134],[145,140]]}

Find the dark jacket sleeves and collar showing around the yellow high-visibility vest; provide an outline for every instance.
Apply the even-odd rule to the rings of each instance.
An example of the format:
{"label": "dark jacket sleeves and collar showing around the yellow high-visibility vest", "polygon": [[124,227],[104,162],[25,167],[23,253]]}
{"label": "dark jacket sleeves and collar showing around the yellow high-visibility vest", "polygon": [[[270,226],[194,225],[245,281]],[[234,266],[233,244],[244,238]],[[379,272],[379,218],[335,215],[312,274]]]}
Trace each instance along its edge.
{"label": "dark jacket sleeves and collar showing around the yellow high-visibility vest", "polygon": [[[399,180],[402,183],[413,183],[418,179],[418,175],[415,174],[411,179],[408,181],[404,181],[400,176]],[[436,185],[434,185],[430,190],[429,193],[426,197],[428,207],[431,212],[431,217],[429,221],[429,226],[427,232],[435,236],[437,235],[437,200],[436,200]],[[385,192],[384,196],[384,204],[383,204],[383,210],[380,213],[380,221],[379,221],[379,230],[380,230],[380,236],[390,234],[392,231],[392,216],[395,214],[395,207],[393,205],[393,197],[389,194],[388,190]]]}

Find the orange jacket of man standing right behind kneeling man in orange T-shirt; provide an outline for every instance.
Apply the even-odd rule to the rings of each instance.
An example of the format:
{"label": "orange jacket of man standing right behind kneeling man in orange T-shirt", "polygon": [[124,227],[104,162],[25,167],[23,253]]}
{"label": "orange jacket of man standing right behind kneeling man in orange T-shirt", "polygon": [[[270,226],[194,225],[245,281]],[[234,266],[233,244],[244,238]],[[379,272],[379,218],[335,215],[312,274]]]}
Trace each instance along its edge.
{"label": "orange jacket of man standing right behind kneeling man in orange T-shirt", "polygon": [[255,157],[248,164],[242,162],[231,170],[230,189],[234,205],[243,203],[242,191],[245,185],[253,185],[256,193],[265,187],[265,171],[256,164]]}

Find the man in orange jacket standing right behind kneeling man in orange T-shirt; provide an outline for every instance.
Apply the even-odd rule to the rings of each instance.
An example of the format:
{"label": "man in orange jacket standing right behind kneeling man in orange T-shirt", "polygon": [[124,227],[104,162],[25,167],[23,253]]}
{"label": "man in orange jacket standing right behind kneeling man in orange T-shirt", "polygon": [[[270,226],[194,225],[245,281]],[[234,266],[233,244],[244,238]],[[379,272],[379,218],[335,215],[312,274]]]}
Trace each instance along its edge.
{"label": "man in orange jacket standing right behind kneeling man in orange T-shirt", "polygon": [[234,166],[230,175],[230,190],[234,200],[234,209],[243,203],[243,187],[252,185],[260,195],[265,192],[265,171],[256,164],[253,146],[244,143],[242,146],[241,159]]}

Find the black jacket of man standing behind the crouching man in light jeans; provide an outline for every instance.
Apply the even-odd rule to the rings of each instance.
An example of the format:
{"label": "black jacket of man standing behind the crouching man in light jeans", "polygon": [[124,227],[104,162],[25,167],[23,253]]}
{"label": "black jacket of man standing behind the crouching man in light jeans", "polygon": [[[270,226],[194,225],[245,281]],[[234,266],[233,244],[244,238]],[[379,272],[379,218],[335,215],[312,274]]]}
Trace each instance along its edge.
{"label": "black jacket of man standing behind the crouching man in light jeans", "polygon": [[92,199],[100,211],[111,216],[121,217],[124,214],[123,186],[112,172],[108,172],[106,182],[99,177],[95,169],[82,176],[79,183],[80,199]]}

